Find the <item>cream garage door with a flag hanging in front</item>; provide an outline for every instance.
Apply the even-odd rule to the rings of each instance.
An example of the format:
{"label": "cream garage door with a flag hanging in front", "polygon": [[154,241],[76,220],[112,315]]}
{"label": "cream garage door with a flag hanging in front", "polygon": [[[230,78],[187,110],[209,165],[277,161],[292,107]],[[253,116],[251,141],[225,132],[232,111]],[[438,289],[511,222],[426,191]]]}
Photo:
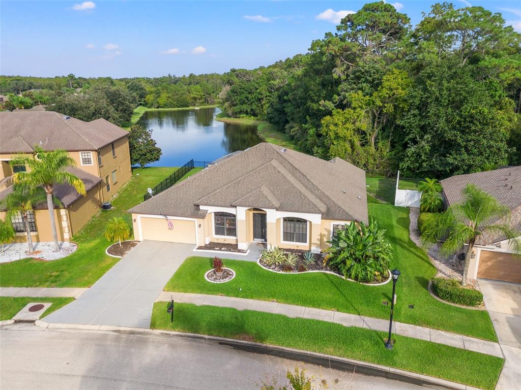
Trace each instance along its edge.
{"label": "cream garage door with a flag hanging in front", "polygon": [[184,242],[195,244],[195,222],[193,220],[170,219],[173,229],[168,228],[166,218],[141,217],[143,240]]}

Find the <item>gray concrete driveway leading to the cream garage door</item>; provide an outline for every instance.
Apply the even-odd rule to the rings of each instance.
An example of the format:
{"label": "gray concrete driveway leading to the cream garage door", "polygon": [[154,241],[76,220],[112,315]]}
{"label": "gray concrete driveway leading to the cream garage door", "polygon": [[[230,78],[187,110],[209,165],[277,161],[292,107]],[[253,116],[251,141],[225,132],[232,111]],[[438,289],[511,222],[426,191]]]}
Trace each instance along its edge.
{"label": "gray concrete driveway leading to the cream garage door", "polygon": [[142,241],[76,301],[45,321],[148,328],[154,301],[193,249],[193,244]]}

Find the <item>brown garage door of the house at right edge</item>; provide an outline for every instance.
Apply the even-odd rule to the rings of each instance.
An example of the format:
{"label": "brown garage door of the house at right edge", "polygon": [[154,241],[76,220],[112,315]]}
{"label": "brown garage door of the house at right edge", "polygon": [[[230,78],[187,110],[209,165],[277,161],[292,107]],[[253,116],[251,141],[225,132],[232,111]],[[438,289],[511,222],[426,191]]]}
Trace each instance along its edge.
{"label": "brown garage door of the house at right edge", "polygon": [[521,283],[521,259],[511,253],[481,251],[478,278]]}

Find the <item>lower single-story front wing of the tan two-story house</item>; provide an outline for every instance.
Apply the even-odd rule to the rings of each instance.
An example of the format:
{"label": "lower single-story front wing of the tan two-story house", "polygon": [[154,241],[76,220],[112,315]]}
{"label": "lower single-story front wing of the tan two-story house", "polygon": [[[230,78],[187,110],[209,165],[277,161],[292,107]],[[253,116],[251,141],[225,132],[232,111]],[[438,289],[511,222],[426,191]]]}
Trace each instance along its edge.
{"label": "lower single-story front wing of the tan two-story house", "polygon": [[[53,186],[54,196],[61,202],[55,206],[54,215],[58,241],[70,241],[89,219],[99,210],[100,193],[102,187],[101,177],[92,175],[77,167],[69,167],[67,171],[78,176],[85,185],[86,196],[81,196],[78,191],[68,184],[55,184]],[[13,186],[0,192],[0,201],[13,191]],[[33,211],[28,212],[29,226],[33,242],[52,241],[51,222],[47,203],[43,202],[33,206]],[[0,219],[5,218],[6,211],[0,210]],[[11,218],[16,236],[15,242],[27,241],[26,227],[22,216],[19,214]]]}

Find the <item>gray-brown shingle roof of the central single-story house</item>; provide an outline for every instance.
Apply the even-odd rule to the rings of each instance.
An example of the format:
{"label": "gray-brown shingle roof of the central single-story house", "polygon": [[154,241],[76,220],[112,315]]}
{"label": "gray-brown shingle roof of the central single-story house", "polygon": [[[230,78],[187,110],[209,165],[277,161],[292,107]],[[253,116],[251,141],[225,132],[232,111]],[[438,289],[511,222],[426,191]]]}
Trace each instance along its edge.
{"label": "gray-brown shingle roof of the central single-story house", "polygon": [[[358,198],[359,197],[359,198]],[[199,205],[275,208],[367,222],[365,172],[262,143],[181,181],[133,207],[138,214],[204,218]]]}

